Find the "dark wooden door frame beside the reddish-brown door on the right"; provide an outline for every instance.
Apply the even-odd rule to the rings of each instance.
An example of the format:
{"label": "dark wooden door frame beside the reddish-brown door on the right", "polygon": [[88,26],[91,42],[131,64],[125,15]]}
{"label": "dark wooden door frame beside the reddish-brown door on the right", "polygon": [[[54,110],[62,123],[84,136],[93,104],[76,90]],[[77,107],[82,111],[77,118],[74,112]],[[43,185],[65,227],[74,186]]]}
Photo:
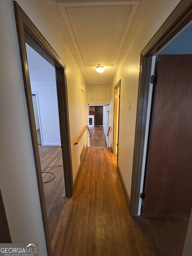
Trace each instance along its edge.
{"label": "dark wooden door frame beside the reddish-brown door on the right", "polygon": [[138,215],[152,57],[192,20],[191,0],[181,0],[141,52],[131,183],[131,215]]}

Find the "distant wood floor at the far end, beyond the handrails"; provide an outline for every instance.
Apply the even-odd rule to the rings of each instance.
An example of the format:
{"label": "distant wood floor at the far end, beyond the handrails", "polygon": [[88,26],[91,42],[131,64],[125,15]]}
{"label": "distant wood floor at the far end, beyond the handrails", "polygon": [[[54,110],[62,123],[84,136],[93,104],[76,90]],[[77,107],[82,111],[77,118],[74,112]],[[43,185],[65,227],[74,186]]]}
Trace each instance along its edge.
{"label": "distant wood floor at the far end, beyond the handrails", "polygon": [[89,128],[89,130],[91,133],[90,147],[107,147],[103,126]]}

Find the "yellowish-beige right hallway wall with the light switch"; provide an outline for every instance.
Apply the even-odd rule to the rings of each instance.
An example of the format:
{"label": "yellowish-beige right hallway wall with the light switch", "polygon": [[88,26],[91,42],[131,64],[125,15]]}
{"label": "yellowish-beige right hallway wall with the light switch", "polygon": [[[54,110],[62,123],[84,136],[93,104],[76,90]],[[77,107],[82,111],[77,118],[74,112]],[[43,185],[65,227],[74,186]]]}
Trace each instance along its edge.
{"label": "yellowish-beige right hallway wall with the light switch", "polygon": [[[121,79],[118,164],[129,197],[131,196],[140,53],[178,3],[179,0],[152,1],[110,84],[110,125],[113,127],[114,86]],[[128,110],[129,101],[131,101],[131,110]],[[113,145],[112,134],[109,145],[111,144]]]}

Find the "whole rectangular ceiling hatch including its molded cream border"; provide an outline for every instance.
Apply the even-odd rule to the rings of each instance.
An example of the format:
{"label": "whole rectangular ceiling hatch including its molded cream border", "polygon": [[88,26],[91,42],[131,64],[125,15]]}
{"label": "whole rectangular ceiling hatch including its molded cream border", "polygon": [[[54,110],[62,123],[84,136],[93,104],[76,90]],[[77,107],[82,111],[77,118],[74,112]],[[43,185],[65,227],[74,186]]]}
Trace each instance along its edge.
{"label": "whole rectangular ceiling hatch including its molded cream border", "polygon": [[138,3],[58,3],[83,66],[117,64]]}

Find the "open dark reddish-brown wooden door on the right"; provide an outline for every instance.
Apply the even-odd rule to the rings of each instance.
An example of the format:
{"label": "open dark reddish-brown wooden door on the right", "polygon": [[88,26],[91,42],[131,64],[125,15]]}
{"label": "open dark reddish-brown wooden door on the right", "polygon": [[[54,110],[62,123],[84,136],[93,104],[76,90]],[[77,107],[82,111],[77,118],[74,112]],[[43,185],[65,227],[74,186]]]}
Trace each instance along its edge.
{"label": "open dark reddish-brown wooden door on the right", "polygon": [[160,55],[146,169],[144,216],[192,207],[192,55]]}

